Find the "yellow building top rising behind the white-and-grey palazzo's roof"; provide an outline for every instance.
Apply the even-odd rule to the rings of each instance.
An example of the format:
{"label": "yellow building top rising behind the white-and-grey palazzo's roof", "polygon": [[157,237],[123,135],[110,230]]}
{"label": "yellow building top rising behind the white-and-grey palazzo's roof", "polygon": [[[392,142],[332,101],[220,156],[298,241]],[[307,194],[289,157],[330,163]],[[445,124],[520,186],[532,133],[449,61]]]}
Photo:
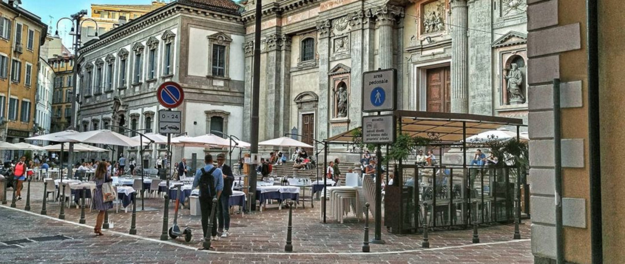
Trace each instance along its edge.
{"label": "yellow building top rising behind the white-and-grey palazzo's roof", "polygon": [[[86,43],[95,35],[96,30],[98,35],[102,35],[120,24],[143,16],[165,4],[164,1],[153,1],[151,4],[91,4],[91,17],[83,17],[81,41]],[[125,17],[126,20],[121,20],[121,17]],[[90,19],[98,22],[97,29],[96,23]]]}

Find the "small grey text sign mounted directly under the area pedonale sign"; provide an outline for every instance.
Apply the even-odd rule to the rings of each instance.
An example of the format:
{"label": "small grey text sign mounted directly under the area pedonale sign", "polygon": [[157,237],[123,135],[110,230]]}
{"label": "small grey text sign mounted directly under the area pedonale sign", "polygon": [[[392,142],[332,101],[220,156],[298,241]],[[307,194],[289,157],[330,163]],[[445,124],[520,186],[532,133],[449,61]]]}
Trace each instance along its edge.
{"label": "small grey text sign mounted directly under the area pedonale sign", "polygon": [[395,141],[395,116],[362,116],[362,143],[390,144]]}

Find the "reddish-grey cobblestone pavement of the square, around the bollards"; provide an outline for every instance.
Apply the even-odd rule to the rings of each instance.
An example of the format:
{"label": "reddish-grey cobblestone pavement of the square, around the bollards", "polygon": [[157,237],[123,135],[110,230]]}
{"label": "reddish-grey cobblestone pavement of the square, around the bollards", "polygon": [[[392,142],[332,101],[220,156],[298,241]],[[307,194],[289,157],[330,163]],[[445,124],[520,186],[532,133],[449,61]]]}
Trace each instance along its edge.
{"label": "reddish-grey cobblestone pavement of the square, around the bollards", "polygon": [[[131,212],[110,210],[114,226],[104,237],[93,236],[96,212],[86,210],[86,225],[79,225],[80,210],[75,206],[65,210],[66,220],[58,220],[58,203],[49,203],[49,217],[41,212],[41,182],[32,182],[31,212],[0,207],[0,242],[26,237],[42,237],[62,233],[73,240],[26,243],[24,248],[0,249],[0,263],[36,263],[44,260],[67,263],[186,263],[211,260],[216,263],[533,263],[529,243],[529,222],[521,225],[522,240],[512,240],[514,225],[481,227],[481,244],[472,244],[472,230],[430,232],[429,250],[421,248],[421,235],[398,236],[382,230],[385,245],[371,244],[372,253],[361,253],[362,222],[346,219],[344,224],[319,221],[319,202],[314,209],[308,206],[293,210],[293,254],[284,253],[288,210],[277,210],[267,205],[267,210],[255,214],[233,215],[231,237],[213,242],[216,252],[196,251],[201,247],[199,217],[191,216],[188,209],[179,213],[181,227],[193,229],[194,237],[186,243],[182,239],[159,241],[163,227],[163,210],[137,212],[137,235],[127,235]],[[11,191],[8,197],[11,197]],[[146,207],[163,208],[163,200],[146,199]],[[17,202],[23,210],[24,200]],[[141,204],[140,202],[138,203]],[[139,206],[140,207],[140,206]],[[174,210],[169,210],[169,226]],[[168,227],[169,227],[168,226]],[[370,237],[373,236],[371,225]],[[35,246],[36,245],[36,246]],[[41,250],[46,248],[46,250]],[[48,250],[49,249],[49,250]],[[7,254],[11,252],[10,254]],[[100,260],[100,255],[106,255]]]}

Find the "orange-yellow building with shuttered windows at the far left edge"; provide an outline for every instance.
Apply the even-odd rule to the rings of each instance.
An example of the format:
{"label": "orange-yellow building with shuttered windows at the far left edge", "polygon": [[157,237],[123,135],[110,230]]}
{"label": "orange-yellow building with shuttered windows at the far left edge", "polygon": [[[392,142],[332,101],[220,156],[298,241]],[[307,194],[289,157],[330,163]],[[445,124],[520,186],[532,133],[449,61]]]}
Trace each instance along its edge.
{"label": "orange-yellow building with shuttered windows at the far left edge", "polygon": [[46,32],[40,17],[0,2],[0,140],[19,142],[32,134],[39,51]]}

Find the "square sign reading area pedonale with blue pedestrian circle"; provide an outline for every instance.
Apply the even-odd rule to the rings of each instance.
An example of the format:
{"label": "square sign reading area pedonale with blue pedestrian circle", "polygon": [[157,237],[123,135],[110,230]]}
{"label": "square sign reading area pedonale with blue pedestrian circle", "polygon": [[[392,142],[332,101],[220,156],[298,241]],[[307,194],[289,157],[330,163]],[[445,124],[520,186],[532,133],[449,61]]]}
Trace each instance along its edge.
{"label": "square sign reading area pedonale with blue pedestrian circle", "polygon": [[365,72],[362,75],[362,111],[395,110],[396,80],[394,68]]}

